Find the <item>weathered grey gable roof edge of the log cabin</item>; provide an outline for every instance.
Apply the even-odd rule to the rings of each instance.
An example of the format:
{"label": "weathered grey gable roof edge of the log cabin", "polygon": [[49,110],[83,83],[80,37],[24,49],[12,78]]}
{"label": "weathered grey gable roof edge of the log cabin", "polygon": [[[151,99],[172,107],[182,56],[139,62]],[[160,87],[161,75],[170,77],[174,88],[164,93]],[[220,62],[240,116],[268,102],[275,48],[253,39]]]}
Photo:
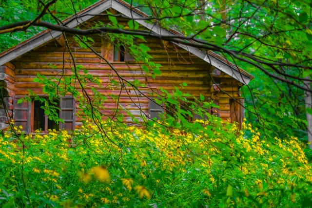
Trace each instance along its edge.
{"label": "weathered grey gable roof edge of the log cabin", "polygon": [[[150,24],[150,23],[145,22],[145,20],[142,18],[148,18],[149,16],[141,12],[140,10],[132,7],[130,4],[124,2],[123,0],[100,0],[97,3],[78,12],[78,15],[82,16],[81,18],[76,19],[75,16],[71,16],[67,19],[64,19],[63,22],[66,24],[67,27],[74,28],[78,26],[79,24],[87,21],[88,19],[95,17],[94,14],[102,13],[109,8],[113,8],[117,12],[129,18],[136,19],[137,23],[143,25],[147,29],[156,33],[157,35],[164,35],[164,36],[181,35],[180,33],[174,30],[166,30],[164,28],[159,27],[156,24]],[[29,52],[32,49],[37,48],[41,44],[44,44],[45,42],[58,37],[59,35],[61,35],[61,32],[51,31],[47,29],[37,34],[36,36],[29,38],[21,42],[20,44],[8,49],[7,51],[0,53],[0,66]],[[240,81],[243,84],[248,84],[249,81],[254,78],[254,76],[252,76],[248,72],[237,67],[233,63],[220,57],[219,55],[215,54],[212,51],[208,51],[208,55],[207,55],[206,52],[201,51],[195,47],[187,46],[181,43],[175,43],[175,44],[189,51],[191,54],[194,54],[195,56],[203,59],[207,63],[210,63],[215,68],[232,76],[233,78],[235,78],[236,80]]]}

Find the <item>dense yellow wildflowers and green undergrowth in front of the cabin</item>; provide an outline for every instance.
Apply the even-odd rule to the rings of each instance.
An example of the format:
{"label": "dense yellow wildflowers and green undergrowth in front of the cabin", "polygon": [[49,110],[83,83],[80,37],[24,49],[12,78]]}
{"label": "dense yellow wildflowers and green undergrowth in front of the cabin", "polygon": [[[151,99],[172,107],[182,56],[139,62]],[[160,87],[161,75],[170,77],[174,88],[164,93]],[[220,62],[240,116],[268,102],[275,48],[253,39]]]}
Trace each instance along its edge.
{"label": "dense yellow wildflowers and green undergrowth in front of the cabin", "polygon": [[1,206],[29,206],[24,180],[34,207],[311,207],[312,168],[297,138],[270,143],[251,124],[196,123],[214,129],[103,122],[104,141],[89,122],[73,134],[22,133],[24,158],[20,141],[4,133]]}

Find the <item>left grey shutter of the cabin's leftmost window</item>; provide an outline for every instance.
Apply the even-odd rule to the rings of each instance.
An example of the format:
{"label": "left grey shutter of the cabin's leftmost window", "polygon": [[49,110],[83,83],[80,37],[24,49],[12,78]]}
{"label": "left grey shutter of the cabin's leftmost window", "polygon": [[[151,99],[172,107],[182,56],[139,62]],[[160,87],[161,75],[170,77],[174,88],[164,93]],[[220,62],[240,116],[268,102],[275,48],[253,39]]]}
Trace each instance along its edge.
{"label": "left grey shutter of the cabin's leftmost window", "polygon": [[18,103],[19,98],[14,98],[13,120],[14,126],[22,126],[22,131],[30,133],[31,102]]}

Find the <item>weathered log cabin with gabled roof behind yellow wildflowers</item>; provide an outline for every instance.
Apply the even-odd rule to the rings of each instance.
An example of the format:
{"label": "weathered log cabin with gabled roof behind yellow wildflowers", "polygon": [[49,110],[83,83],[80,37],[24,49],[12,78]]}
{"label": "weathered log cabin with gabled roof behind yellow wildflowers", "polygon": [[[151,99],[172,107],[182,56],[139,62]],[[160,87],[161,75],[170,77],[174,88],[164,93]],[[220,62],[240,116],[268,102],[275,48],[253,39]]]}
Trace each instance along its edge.
{"label": "weathered log cabin with gabled roof behind yellow wildflowers", "polygon": [[[148,15],[122,0],[100,0],[80,11],[79,19],[70,17],[63,22],[70,28],[79,26],[81,29],[86,29],[91,27],[95,21],[110,23],[107,16],[94,16],[94,14],[107,11],[124,16],[117,18],[118,24],[127,25],[129,19],[126,17],[133,17],[137,19],[139,29],[149,30],[158,35],[180,35],[178,31],[160,28],[156,23],[147,23],[144,18]],[[114,76],[110,66],[91,50],[75,44],[73,35],[66,34],[66,37],[71,42],[71,50],[77,64],[82,65],[84,69],[88,70],[88,73],[102,80],[103,89],[98,92],[103,95],[114,93],[111,89],[105,88],[105,83],[109,81],[108,77]],[[185,82],[188,85],[183,89],[184,93],[195,97],[199,97],[200,94],[204,95],[206,100],[213,101],[219,106],[219,109],[211,113],[221,117],[224,121],[242,122],[244,99],[241,97],[239,89],[254,77],[214,52],[208,51],[207,53],[194,47],[156,38],[145,38],[146,42],[136,39],[138,44],[143,42],[147,45],[151,49],[148,53],[153,57],[153,61],[162,65],[161,75],[153,78],[142,70],[141,64],[137,63],[133,57],[126,52],[122,53],[123,50],[126,51],[125,49],[116,48],[108,38],[103,38],[103,34],[87,37],[94,40],[93,49],[106,57],[124,78],[137,79],[145,82],[149,87],[162,87],[168,92],[175,90],[175,86]],[[37,73],[44,76],[57,76],[64,67],[65,75],[71,75],[71,58],[68,48],[64,46],[61,32],[45,30],[0,53],[0,87],[3,101],[8,110],[6,112],[4,103],[1,103],[0,130],[8,128],[8,117],[13,118],[15,125],[22,125],[26,133],[32,133],[39,129],[41,129],[41,133],[47,133],[48,129],[74,130],[82,125],[81,118],[76,116],[78,104],[72,96],[64,96],[60,99],[59,116],[65,123],[59,123],[59,125],[44,115],[44,110],[40,108],[42,105],[40,102],[17,102],[20,97],[29,94],[28,89],[45,96],[42,92],[42,85],[34,82]],[[49,64],[54,66],[53,69]],[[90,87],[86,90],[92,95]],[[130,96],[133,97],[121,92],[119,103],[138,119],[140,110],[133,102],[151,118],[157,117],[158,113],[165,111],[142,95],[130,93]],[[106,112],[113,113],[115,108],[116,101],[108,99]],[[108,114],[108,116],[110,115]],[[126,122],[131,122],[131,117],[127,116],[127,113],[124,113],[124,116]]]}

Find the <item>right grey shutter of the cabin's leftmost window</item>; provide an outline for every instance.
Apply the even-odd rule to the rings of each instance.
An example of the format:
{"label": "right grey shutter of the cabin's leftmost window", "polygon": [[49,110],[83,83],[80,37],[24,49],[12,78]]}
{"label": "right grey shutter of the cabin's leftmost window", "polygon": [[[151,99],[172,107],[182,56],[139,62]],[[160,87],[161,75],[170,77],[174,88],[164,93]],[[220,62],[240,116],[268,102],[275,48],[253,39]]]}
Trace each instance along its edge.
{"label": "right grey shutter of the cabin's leftmost window", "polygon": [[65,96],[60,98],[60,112],[59,117],[65,123],[59,122],[60,130],[75,130],[76,125],[76,101],[72,96]]}

